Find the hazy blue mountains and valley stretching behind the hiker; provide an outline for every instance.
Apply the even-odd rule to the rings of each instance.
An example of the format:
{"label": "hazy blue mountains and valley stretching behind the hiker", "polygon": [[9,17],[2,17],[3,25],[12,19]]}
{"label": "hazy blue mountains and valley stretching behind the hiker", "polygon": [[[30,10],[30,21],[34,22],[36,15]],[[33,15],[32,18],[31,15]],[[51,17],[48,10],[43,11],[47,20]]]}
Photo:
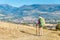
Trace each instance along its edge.
{"label": "hazy blue mountains and valley stretching behind the hiker", "polygon": [[0,5],[0,20],[3,21],[32,23],[39,16],[44,17],[47,22],[60,20],[60,5],[33,4],[21,7],[13,7],[7,4]]}

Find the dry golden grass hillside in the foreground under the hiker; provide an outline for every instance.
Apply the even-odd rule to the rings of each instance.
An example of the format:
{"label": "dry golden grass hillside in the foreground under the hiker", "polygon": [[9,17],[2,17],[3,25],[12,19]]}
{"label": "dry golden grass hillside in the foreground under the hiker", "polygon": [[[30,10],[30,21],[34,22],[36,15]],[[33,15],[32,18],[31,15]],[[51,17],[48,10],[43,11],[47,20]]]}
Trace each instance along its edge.
{"label": "dry golden grass hillside in the foreground under the hiker", "polygon": [[60,31],[44,29],[43,36],[35,34],[35,27],[0,21],[0,40],[60,40]]}

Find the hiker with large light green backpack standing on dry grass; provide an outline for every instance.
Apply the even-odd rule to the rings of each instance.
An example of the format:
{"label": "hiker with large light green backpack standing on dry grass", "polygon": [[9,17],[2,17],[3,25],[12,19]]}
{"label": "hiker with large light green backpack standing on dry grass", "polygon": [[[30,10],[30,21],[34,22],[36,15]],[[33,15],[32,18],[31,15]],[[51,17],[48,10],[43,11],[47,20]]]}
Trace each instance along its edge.
{"label": "hiker with large light green backpack standing on dry grass", "polygon": [[[38,27],[37,27],[38,26]],[[45,19],[42,17],[38,18],[38,22],[36,24],[36,34],[43,35],[43,27],[45,26]],[[37,30],[38,29],[38,30]],[[38,34],[37,34],[38,35]]]}

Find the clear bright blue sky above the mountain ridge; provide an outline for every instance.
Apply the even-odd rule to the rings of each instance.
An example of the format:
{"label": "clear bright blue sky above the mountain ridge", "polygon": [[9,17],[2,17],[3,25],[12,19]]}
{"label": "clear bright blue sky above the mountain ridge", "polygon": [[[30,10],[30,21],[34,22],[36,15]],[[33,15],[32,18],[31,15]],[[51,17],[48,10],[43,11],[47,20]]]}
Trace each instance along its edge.
{"label": "clear bright blue sky above the mountain ridge", "polygon": [[32,4],[60,4],[60,0],[0,0],[0,4],[8,4],[15,7]]}

